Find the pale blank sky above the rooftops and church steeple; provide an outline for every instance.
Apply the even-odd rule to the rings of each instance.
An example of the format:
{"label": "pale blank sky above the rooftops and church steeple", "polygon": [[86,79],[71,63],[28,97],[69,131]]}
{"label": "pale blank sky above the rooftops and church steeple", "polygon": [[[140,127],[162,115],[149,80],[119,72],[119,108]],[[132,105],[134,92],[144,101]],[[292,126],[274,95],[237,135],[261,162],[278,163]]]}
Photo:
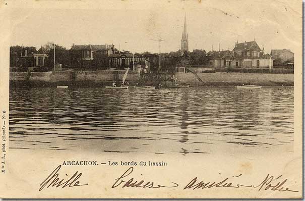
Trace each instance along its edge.
{"label": "pale blank sky above the rooftops and church steeple", "polygon": [[237,40],[254,38],[269,54],[301,45],[296,24],[302,13],[294,1],[29,1],[8,8],[11,45],[107,43],[121,51],[158,53],[160,35],[162,53],[178,51],[185,15],[190,51],[210,51],[212,45],[218,50],[219,44],[231,50]]}

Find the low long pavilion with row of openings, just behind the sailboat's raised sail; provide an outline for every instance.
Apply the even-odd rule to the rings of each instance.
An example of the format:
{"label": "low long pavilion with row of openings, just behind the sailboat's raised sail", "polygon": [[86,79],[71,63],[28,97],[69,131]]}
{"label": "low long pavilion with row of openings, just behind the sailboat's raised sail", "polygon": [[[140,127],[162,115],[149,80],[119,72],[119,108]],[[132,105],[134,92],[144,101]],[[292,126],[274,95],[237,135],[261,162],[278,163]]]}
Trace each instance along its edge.
{"label": "low long pavilion with row of openings, just behind the sailboat's raised sail", "polygon": [[[135,62],[135,64],[133,64],[133,61]],[[130,70],[137,70],[135,68],[138,65],[141,65],[143,68],[149,71],[149,64],[150,62],[147,58],[143,56],[134,55],[132,53],[119,53],[109,56],[110,68],[124,69],[129,67]]]}

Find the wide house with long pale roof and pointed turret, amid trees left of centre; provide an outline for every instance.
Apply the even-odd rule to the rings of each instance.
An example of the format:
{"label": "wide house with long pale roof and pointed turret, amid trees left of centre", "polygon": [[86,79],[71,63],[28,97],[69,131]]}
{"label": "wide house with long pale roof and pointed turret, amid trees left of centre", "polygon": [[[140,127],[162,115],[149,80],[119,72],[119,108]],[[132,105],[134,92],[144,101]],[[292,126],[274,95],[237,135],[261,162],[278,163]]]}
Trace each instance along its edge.
{"label": "wide house with long pale roof and pointed turret, amid trees left of centre", "polygon": [[81,65],[86,67],[90,65],[90,61],[93,60],[94,55],[100,54],[105,57],[109,57],[114,54],[114,45],[113,44],[73,44],[71,49],[72,63],[75,65],[75,61],[80,60]]}

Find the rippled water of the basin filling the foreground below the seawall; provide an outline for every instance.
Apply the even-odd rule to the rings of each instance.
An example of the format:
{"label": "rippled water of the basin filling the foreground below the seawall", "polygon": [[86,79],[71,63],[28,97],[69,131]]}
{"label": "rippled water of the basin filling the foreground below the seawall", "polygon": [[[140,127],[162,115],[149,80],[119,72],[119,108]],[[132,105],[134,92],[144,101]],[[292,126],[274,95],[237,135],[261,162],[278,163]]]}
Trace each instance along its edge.
{"label": "rippled water of the basin filling the foreground below the seawall", "polygon": [[12,89],[10,146],[184,156],[293,152],[293,87]]}

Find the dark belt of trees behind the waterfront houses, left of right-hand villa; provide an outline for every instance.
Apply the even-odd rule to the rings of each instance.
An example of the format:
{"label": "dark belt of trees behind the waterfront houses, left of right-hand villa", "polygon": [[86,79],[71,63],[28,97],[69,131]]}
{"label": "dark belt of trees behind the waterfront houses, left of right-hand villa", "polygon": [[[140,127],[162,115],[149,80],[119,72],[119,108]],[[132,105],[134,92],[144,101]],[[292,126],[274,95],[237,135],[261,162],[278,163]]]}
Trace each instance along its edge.
{"label": "dark belt of trees behind the waterfront houses, left of right-hand villa", "polygon": [[[51,70],[54,66],[54,45],[53,43],[46,43],[43,45],[46,49],[48,58],[45,61],[45,68]],[[25,50],[27,50],[28,57],[25,58]],[[118,50],[115,49],[118,53]],[[30,56],[37,52],[33,46],[11,46],[10,47],[10,67],[25,68],[33,67],[33,58]],[[125,53],[128,53],[126,51]],[[147,58],[150,61],[150,69],[157,72],[159,69],[159,54],[156,53],[136,53],[135,56]],[[188,65],[199,66],[208,65],[208,55],[205,50],[196,50],[185,53],[181,56],[181,52],[170,52],[161,54],[161,69],[162,71],[173,71],[173,67],[187,61]],[[96,52],[94,59],[87,63],[86,66],[82,64],[82,53],[80,51],[70,51],[66,47],[55,44],[55,62],[62,64],[63,68],[91,68],[91,69],[107,69],[109,68],[109,57]]]}

